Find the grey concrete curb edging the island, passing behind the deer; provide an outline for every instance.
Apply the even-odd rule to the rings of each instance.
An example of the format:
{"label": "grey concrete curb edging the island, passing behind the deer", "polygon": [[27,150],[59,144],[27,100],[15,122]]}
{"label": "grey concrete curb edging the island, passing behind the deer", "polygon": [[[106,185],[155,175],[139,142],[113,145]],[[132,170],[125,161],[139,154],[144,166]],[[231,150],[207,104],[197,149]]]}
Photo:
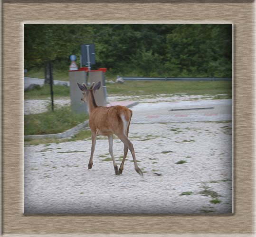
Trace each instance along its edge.
{"label": "grey concrete curb edging the island, passing behind the deer", "polygon": [[[135,105],[137,105],[139,102],[135,101],[132,104],[127,105],[127,108],[133,107]],[[74,128],[70,128],[68,130],[66,130],[63,133],[55,133],[55,134],[44,134],[44,135],[26,135],[24,136],[24,139],[46,139],[46,138],[64,138],[64,137],[70,137],[72,135],[74,135],[76,132],[80,131],[82,128],[85,128],[88,126],[89,120],[86,120],[83,123],[80,123],[78,125],[76,125],[76,127]]]}

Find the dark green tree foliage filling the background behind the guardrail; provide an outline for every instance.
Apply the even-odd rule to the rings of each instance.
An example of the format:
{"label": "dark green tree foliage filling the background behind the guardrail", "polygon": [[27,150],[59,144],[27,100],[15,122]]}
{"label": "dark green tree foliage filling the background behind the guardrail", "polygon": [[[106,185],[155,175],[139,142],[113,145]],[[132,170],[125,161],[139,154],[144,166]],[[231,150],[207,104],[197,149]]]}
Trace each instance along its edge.
{"label": "dark green tree foliage filling the background behind the guardrail", "polygon": [[85,43],[108,76],[232,76],[231,24],[25,24],[24,66],[67,71]]}

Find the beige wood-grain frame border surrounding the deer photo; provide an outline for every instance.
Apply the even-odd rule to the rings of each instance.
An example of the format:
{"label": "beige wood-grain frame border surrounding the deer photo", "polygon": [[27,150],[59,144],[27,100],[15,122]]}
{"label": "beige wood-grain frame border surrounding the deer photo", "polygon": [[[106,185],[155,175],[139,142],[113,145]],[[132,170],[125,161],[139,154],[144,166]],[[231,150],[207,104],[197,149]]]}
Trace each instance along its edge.
{"label": "beige wood-grain frame border surrounding the deer photo", "polygon": [[[225,1],[223,1],[225,2]],[[249,236],[254,232],[251,1],[3,3],[2,224],[6,236]],[[23,209],[23,23],[233,23],[236,118],[233,215],[30,215]],[[163,233],[164,235],[162,235]],[[188,234],[190,233],[190,234]],[[44,235],[42,235],[44,234]],[[90,234],[90,235],[88,235]],[[96,234],[96,235],[95,235]],[[123,235],[121,235],[123,234]],[[148,235],[146,235],[148,234]],[[232,235],[231,235],[232,234]]]}

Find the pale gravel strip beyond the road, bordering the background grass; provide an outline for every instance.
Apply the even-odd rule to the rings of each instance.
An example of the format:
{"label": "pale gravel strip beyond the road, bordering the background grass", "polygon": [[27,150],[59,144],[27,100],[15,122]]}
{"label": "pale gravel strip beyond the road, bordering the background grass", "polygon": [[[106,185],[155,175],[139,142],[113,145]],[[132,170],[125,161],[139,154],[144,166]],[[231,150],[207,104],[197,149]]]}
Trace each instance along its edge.
{"label": "pale gravel strip beyond the road, bordering the background grass", "polygon": [[[219,96],[225,94],[219,94]],[[218,95],[216,95],[218,96]],[[210,95],[186,95],[186,94],[160,94],[160,95],[139,95],[139,96],[109,96],[108,102],[121,100],[138,100],[140,103],[153,102],[171,102],[171,101],[185,101],[185,100],[210,100],[214,96]],[[47,111],[47,106],[50,104],[50,99],[47,100],[24,100],[24,114],[35,114]],[[55,106],[65,106],[70,104],[70,99],[55,99]]]}

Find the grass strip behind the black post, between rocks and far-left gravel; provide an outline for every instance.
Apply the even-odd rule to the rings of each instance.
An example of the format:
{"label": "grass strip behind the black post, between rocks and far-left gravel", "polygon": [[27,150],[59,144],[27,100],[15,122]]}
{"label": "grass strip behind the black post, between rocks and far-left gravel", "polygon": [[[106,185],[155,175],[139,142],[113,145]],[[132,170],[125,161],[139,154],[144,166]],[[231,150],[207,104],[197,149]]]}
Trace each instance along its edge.
{"label": "grass strip behind the black post, between rocks and far-left gravel", "polygon": [[[70,91],[68,86],[53,85],[54,98],[56,97],[69,97]],[[28,99],[47,99],[50,98],[51,91],[50,85],[46,84],[34,90],[24,91],[24,100]]]}

